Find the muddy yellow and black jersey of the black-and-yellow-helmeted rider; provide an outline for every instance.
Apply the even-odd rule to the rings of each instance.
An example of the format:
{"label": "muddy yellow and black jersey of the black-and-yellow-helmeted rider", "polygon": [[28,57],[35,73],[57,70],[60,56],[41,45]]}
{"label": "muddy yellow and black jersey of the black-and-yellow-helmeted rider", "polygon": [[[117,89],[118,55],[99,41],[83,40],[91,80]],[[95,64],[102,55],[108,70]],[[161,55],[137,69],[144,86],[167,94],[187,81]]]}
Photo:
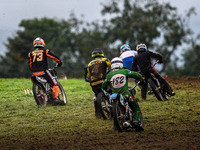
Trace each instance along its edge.
{"label": "muddy yellow and black jersey of the black-and-yellow-helmeted rider", "polygon": [[111,62],[107,58],[96,58],[88,64],[86,77],[90,79],[91,86],[104,82],[110,66]]}

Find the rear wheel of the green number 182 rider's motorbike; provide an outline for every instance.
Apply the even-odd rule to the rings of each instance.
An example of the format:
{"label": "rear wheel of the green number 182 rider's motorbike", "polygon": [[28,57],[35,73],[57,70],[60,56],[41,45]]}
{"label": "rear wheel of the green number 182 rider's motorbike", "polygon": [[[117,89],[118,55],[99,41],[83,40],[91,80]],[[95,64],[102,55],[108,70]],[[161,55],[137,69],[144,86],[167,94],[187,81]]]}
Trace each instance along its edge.
{"label": "rear wheel of the green number 182 rider's motorbike", "polygon": [[112,106],[114,128],[121,132],[124,129],[123,123],[126,121],[125,110],[118,100],[115,100]]}

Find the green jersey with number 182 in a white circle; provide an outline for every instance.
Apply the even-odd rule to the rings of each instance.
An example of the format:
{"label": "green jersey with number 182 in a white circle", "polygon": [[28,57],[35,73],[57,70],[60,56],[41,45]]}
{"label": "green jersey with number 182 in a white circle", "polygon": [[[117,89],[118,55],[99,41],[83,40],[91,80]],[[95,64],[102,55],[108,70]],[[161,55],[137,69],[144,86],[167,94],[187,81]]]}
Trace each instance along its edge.
{"label": "green jersey with number 182 in a white circle", "polygon": [[109,72],[102,87],[106,90],[107,87],[111,85],[112,93],[130,95],[128,90],[128,78],[135,78],[139,81],[143,80],[141,74],[121,68],[119,70]]}

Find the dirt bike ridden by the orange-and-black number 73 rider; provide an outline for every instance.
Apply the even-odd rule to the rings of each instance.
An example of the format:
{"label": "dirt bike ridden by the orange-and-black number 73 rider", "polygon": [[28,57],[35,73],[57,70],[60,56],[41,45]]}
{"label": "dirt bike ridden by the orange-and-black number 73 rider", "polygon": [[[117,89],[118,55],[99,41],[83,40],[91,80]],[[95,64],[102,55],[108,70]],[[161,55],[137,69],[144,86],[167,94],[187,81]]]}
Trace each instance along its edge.
{"label": "dirt bike ridden by the orange-and-black number 73 rider", "polygon": [[[52,69],[48,69],[48,71],[52,74],[54,79],[57,81],[57,72],[55,68],[57,68],[57,64]],[[39,76],[32,76],[31,80],[33,82],[32,90],[33,90],[33,95],[34,95],[36,104],[44,105],[44,106],[48,104],[54,105],[55,103],[54,103],[54,96],[52,93],[52,87],[49,85],[47,80]],[[67,97],[66,97],[65,91],[62,85],[60,84],[60,82],[57,81],[57,83],[59,87],[59,100],[60,100],[59,104],[65,105],[67,104]]]}

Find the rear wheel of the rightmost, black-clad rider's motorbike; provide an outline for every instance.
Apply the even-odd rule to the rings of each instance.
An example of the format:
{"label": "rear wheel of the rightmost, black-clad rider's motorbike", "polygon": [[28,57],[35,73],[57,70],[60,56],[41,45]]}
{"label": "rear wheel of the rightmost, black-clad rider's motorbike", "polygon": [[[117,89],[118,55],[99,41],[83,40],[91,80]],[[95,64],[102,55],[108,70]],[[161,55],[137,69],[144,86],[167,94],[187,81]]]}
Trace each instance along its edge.
{"label": "rear wheel of the rightmost, black-clad rider's motorbike", "polygon": [[153,93],[159,101],[164,101],[160,88],[153,82],[151,78],[147,79]]}

